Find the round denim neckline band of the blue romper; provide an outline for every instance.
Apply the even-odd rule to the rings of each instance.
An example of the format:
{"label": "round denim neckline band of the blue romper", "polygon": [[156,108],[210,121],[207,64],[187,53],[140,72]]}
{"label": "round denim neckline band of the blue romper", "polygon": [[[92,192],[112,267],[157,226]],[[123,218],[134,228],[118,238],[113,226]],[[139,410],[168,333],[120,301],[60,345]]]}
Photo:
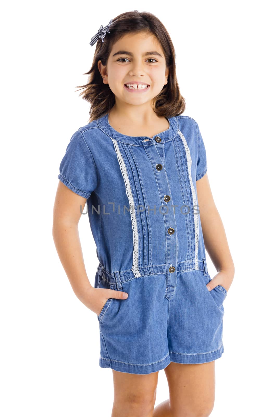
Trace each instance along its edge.
{"label": "round denim neckline band of the blue romper", "polygon": [[[175,118],[175,116],[173,117],[165,116],[169,122],[168,129],[166,129],[163,132],[157,133],[151,138],[150,136],[128,136],[128,135],[124,135],[123,133],[116,131],[110,125],[109,120],[108,120],[108,115],[109,115],[109,112],[106,113],[104,116],[97,119],[98,126],[102,131],[104,131],[104,133],[108,134],[108,136],[122,143],[128,143],[130,145],[135,145],[135,146],[146,146],[146,145],[148,146],[148,145],[152,145],[153,143],[157,143],[155,141],[155,138],[157,136],[159,136],[161,139],[159,143],[162,143],[168,140],[172,140],[178,134],[178,121]],[[144,141],[145,139],[149,139],[149,140]]]}

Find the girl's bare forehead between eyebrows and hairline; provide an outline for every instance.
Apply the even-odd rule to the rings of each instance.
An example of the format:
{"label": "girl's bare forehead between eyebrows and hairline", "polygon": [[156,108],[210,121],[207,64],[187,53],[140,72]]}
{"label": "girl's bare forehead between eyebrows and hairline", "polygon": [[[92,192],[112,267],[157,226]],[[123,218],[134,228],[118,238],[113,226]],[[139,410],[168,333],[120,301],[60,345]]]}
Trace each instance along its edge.
{"label": "girl's bare forehead between eyebrows and hairline", "polygon": [[164,57],[158,39],[149,32],[127,33],[114,43],[110,56],[118,50],[130,51],[134,54],[142,53],[142,55],[149,51],[157,51]]}

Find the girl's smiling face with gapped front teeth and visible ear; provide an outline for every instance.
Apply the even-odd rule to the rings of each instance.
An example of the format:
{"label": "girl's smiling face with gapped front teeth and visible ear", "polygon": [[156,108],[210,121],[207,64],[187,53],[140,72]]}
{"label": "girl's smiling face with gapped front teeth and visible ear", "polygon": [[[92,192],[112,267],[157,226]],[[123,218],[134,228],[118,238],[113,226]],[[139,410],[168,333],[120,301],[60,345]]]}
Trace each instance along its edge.
{"label": "girl's smiling face with gapped front teeth and visible ear", "polygon": [[[103,83],[114,93],[116,103],[130,105],[152,103],[167,84],[169,74],[160,43],[146,32],[129,33],[118,40],[113,45],[107,66],[99,61],[98,69]],[[126,85],[133,83],[139,88]]]}

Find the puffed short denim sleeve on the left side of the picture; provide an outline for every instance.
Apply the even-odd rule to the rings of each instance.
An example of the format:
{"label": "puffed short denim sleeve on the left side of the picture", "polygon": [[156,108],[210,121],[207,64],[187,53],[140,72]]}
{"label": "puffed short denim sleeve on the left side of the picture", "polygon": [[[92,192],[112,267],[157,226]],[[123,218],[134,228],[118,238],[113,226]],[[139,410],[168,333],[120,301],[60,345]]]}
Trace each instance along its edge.
{"label": "puffed short denim sleeve on the left side of the picture", "polygon": [[81,197],[89,198],[98,177],[92,153],[80,131],[73,133],[60,163],[60,181]]}

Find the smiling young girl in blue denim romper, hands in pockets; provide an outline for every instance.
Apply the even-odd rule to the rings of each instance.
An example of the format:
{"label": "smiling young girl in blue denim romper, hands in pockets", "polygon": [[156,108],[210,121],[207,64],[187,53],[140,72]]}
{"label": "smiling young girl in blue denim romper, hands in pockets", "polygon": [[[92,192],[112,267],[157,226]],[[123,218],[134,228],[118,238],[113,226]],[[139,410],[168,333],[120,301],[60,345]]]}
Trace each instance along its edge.
{"label": "smiling young girl in blue denim romper, hands in pockets", "polygon": [[[98,317],[112,416],[208,416],[234,265],[210,191],[198,123],[175,50],[151,13],[122,13],[92,38],[90,121],[60,163],[53,238],[73,291]],[[90,284],[78,235],[85,203],[99,265]],[[218,273],[211,279],[205,248]],[[170,398],[155,407],[158,371]]]}

